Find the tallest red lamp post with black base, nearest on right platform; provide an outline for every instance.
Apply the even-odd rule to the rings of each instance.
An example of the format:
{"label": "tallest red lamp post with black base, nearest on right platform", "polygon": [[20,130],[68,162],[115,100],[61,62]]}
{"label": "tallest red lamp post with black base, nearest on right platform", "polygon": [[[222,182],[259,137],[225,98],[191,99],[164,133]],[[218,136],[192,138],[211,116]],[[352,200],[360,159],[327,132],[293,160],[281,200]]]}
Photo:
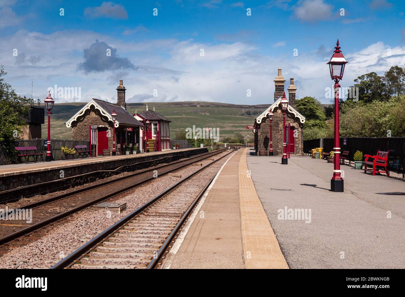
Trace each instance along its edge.
{"label": "tallest red lamp post with black base, nearest on right platform", "polygon": [[339,47],[339,39],[337,40],[335,51],[329,62],[330,77],[335,81],[335,147],[333,148],[335,154],[333,177],[330,180],[330,190],[333,192],[343,192],[343,178],[340,170],[340,136],[339,136],[339,80],[343,77],[345,64],[347,63],[345,57]]}

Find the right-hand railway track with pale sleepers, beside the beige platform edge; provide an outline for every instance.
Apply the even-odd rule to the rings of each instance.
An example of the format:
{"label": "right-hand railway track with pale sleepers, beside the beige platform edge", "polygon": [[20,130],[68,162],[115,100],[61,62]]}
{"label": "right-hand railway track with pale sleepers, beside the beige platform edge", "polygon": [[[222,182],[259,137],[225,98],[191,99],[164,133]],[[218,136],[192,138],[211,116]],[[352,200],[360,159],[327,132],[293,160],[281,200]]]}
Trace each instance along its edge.
{"label": "right-hand railway track with pale sleepers, beside the beige platform edge", "polygon": [[207,182],[204,169],[232,152],[164,190],[51,268],[159,268],[167,249],[215,177],[216,173]]}

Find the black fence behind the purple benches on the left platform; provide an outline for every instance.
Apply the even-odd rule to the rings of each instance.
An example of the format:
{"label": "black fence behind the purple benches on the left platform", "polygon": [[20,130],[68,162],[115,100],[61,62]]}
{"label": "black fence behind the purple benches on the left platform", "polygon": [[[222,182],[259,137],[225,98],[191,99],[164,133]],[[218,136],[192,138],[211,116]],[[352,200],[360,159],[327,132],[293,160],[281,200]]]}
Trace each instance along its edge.
{"label": "black fence behind the purple benches on the left platform", "polygon": [[[15,146],[36,146],[39,152],[43,152],[44,160],[47,152],[47,139],[16,139],[13,147]],[[60,150],[60,147],[74,148],[75,145],[87,145],[89,146],[88,140],[72,140],[72,139],[51,139],[51,153],[53,160],[65,160],[65,154]],[[75,158],[78,156],[75,153]],[[31,160],[31,159],[30,159]],[[11,152],[6,152],[0,144],[0,165],[10,165],[17,163],[17,152],[12,150]]]}

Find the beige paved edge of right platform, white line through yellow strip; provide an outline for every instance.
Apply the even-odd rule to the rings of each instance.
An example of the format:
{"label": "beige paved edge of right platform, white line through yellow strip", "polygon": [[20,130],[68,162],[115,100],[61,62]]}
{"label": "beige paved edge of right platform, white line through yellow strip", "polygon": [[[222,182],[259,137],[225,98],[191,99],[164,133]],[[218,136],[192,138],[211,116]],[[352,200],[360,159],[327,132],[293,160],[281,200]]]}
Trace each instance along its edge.
{"label": "beige paved edge of right platform, white line through yellow strip", "polygon": [[288,268],[247,169],[235,152],[168,252],[163,269]]}

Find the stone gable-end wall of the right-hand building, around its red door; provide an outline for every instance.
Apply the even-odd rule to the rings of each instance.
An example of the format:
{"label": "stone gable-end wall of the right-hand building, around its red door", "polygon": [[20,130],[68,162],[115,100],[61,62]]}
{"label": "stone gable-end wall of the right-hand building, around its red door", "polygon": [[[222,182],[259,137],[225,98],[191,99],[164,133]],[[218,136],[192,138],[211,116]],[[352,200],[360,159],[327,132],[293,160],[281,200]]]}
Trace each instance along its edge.
{"label": "stone gable-end wall of the right-hand building, around its red door", "polygon": [[[273,140],[273,152],[275,155],[283,154],[283,113],[279,107],[276,107],[273,111],[273,129],[272,129],[272,140]],[[299,122],[298,118],[294,115],[286,114],[286,125],[288,123],[298,131],[298,135],[295,138],[295,154],[303,155],[303,124]],[[269,155],[270,150],[270,120],[265,118],[258,129],[258,150],[259,152],[264,152],[265,155]]]}

